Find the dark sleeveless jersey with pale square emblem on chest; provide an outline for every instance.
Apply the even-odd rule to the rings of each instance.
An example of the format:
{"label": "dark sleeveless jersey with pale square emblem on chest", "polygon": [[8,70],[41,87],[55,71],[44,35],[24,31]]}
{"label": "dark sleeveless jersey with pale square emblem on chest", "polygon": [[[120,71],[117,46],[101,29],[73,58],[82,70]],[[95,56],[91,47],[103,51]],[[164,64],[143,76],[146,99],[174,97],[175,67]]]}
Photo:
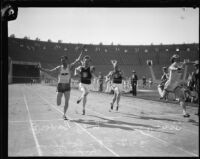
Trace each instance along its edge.
{"label": "dark sleeveless jersey with pale square emblem on chest", "polygon": [[92,74],[90,71],[90,67],[84,68],[81,67],[81,83],[91,84]]}

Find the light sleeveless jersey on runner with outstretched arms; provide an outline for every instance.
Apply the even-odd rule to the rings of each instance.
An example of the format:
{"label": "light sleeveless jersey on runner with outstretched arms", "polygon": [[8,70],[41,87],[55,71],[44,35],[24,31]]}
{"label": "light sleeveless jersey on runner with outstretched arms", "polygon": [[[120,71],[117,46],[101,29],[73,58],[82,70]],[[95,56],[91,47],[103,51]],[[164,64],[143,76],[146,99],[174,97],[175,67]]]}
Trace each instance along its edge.
{"label": "light sleeveless jersey on runner with outstretched arms", "polygon": [[60,73],[58,75],[58,83],[70,83],[71,80],[71,72],[69,69],[69,65],[66,69],[63,66],[60,67]]}

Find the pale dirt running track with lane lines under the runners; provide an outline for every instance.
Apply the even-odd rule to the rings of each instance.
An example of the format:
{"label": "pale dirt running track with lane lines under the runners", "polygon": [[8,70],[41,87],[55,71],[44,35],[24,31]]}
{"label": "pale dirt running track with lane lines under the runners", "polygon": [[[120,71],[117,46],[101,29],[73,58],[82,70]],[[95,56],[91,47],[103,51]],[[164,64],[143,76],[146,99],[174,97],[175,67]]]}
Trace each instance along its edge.
{"label": "pale dirt running track with lane lines under the runners", "polygon": [[183,118],[177,104],[122,97],[119,111],[109,112],[112,95],[92,92],[83,116],[81,93],[72,90],[70,120],[63,120],[55,87],[8,91],[8,156],[199,156],[196,107]]}

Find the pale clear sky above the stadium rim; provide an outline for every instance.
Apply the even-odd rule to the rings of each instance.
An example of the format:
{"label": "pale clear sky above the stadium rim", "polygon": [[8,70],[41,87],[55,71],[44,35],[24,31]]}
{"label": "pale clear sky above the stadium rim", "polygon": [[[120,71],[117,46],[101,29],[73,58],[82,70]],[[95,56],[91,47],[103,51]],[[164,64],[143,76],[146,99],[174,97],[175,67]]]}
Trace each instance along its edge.
{"label": "pale clear sky above the stadium rim", "polygon": [[63,43],[199,43],[199,8],[19,8],[11,34]]}

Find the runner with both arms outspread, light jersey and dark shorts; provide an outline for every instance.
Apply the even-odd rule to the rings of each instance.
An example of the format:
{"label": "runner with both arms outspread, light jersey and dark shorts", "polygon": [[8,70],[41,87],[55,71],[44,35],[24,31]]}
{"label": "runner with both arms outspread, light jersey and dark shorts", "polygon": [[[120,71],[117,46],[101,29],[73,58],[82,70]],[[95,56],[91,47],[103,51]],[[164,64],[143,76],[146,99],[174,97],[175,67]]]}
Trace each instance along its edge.
{"label": "runner with both arms outspread, light jersey and dark shorts", "polygon": [[41,66],[39,66],[39,69],[41,71],[44,71],[44,72],[47,72],[47,73],[52,73],[52,72],[58,73],[57,105],[59,106],[61,104],[61,99],[62,99],[62,96],[64,94],[64,96],[65,96],[65,105],[64,105],[64,111],[63,111],[64,120],[67,120],[66,112],[67,112],[67,109],[68,109],[69,98],[70,98],[71,74],[72,74],[72,71],[73,71],[76,63],[78,63],[80,61],[81,56],[82,56],[82,51],[81,51],[79,57],[71,64],[69,64],[67,56],[62,56],[60,58],[61,65],[57,66],[56,68],[54,68],[52,70],[44,69]]}

